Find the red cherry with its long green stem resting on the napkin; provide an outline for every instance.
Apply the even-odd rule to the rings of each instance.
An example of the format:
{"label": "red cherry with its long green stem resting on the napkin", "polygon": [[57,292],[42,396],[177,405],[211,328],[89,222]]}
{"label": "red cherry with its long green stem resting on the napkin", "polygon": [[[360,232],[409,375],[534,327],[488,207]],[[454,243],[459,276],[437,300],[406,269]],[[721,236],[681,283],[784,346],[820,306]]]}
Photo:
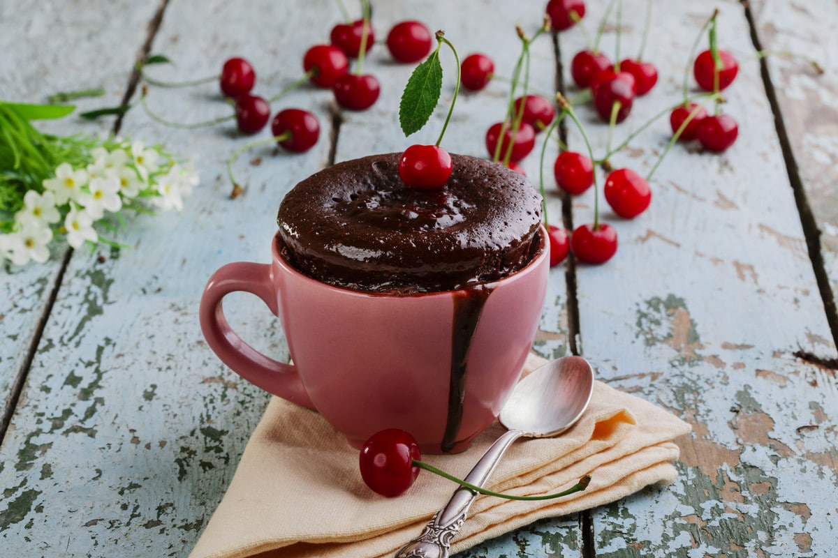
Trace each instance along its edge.
{"label": "red cherry with its long green stem resting on the napkin", "polygon": [[398,428],[387,428],[370,436],[361,448],[359,458],[361,478],[364,479],[370,489],[388,498],[398,496],[409,489],[416,477],[419,476],[419,469],[421,468],[448,480],[453,480],[455,483],[480,494],[515,500],[560,498],[586,489],[591,482],[591,477],[585,475],[582,479],[579,479],[577,484],[564,492],[542,496],[514,496],[492,492],[467,483],[463,479],[458,479],[432,465],[423,463],[420,461],[421,458],[419,444],[416,443],[416,438],[413,438],[411,433]]}

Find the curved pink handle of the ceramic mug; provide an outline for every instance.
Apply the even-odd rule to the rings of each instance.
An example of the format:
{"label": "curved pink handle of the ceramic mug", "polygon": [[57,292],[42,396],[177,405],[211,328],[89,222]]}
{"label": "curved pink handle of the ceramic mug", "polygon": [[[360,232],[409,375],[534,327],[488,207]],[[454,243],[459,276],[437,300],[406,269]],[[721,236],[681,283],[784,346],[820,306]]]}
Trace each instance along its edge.
{"label": "curved pink handle of the ceramic mug", "polygon": [[230,327],[221,307],[225,295],[235,291],[256,294],[271,310],[279,315],[279,303],[273,285],[271,264],[237,262],[222,266],[204,288],[199,317],[201,331],[225,365],[256,387],[290,402],[314,409],[311,398],[294,366],[275,361],[248,345]]}

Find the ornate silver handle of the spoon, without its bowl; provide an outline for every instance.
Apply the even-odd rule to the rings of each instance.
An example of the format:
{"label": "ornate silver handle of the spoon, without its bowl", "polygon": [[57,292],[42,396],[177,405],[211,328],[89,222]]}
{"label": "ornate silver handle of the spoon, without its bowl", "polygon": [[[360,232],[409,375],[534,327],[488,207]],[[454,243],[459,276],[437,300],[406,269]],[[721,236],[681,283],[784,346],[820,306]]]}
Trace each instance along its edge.
{"label": "ornate silver handle of the spoon, without its bowl", "polygon": [[[498,466],[504,452],[522,435],[520,430],[510,430],[495,440],[465,478],[466,482],[483,488]],[[463,526],[468,508],[476,497],[477,494],[473,490],[465,487],[455,490],[448,503],[425,525],[422,535],[402,546],[396,552],[396,558],[444,558],[447,556],[451,540]]]}

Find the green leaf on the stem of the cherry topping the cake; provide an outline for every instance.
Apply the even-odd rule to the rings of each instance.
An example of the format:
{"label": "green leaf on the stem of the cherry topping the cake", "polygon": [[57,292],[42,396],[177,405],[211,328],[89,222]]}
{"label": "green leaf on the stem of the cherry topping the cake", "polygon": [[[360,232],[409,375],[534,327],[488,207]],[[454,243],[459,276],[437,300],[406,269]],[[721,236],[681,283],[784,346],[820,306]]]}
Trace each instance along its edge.
{"label": "green leaf on the stem of the cherry topping the cake", "polygon": [[442,94],[442,64],[439,63],[439,50],[435,50],[422,64],[416,66],[405,90],[401,94],[399,105],[399,124],[405,136],[422,130],[437,108],[439,95]]}

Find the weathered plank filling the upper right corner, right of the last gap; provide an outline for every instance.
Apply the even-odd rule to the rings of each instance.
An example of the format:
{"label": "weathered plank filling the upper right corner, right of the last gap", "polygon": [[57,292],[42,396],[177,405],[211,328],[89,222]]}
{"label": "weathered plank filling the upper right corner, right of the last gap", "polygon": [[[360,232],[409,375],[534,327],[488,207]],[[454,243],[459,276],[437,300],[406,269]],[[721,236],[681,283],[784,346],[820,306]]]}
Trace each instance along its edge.
{"label": "weathered plank filling the upper right corner, right of the last gap", "polygon": [[[796,171],[817,222],[833,296],[838,292],[838,11],[830,3],[751,2]],[[817,74],[806,58],[818,62]]]}

